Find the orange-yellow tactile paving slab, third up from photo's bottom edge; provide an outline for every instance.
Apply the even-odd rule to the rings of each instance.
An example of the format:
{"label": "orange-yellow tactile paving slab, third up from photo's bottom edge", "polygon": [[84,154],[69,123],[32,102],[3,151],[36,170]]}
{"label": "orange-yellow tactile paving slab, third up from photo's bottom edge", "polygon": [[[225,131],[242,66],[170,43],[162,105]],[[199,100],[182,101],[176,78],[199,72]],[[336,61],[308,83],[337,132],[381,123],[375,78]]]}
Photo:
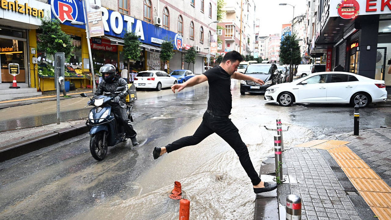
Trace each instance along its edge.
{"label": "orange-yellow tactile paving slab, third up from photo's bottom edge", "polygon": [[[353,186],[359,191],[391,193],[391,188],[382,179],[350,178]],[[391,216],[390,216],[391,217]]]}

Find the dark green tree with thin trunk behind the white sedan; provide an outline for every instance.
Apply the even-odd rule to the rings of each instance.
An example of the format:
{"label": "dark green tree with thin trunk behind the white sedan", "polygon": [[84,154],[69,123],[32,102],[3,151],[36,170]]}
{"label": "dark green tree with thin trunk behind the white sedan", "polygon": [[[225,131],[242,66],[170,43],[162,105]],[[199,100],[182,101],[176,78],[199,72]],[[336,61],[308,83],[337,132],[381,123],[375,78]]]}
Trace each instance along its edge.
{"label": "dark green tree with thin trunk behind the white sedan", "polygon": [[293,71],[292,65],[300,64],[300,47],[299,40],[296,39],[296,34],[285,35],[280,45],[280,61],[289,63],[289,81],[292,82]]}

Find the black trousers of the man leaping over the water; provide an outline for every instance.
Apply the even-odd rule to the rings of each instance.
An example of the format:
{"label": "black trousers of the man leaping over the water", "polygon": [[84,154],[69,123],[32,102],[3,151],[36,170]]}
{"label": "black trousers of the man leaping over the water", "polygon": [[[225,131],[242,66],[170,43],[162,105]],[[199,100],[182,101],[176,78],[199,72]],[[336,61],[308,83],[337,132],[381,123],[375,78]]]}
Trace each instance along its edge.
{"label": "black trousers of the man leaping over the water", "polygon": [[250,177],[253,185],[258,185],[261,182],[261,179],[251,162],[247,146],[242,141],[242,138],[239,135],[239,130],[228,116],[226,118],[217,118],[205,112],[202,122],[194,134],[192,136],[182,137],[181,139],[168,144],[166,146],[167,153],[185,146],[198,144],[212,133],[216,133],[224,139],[224,141],[230,144],[231,148],[233,148],[238,155],[240,164],[242,164],[242,167],[246,171],[248,177]]}

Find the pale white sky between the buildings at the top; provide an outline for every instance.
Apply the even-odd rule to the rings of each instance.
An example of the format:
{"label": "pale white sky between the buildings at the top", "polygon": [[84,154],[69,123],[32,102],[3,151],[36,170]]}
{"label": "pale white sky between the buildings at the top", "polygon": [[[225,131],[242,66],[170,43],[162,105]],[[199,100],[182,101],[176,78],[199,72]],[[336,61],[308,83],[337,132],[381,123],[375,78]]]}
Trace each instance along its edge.
{"label": "pale white sky between the buildings at the top", "polygon": [[[282,31],[282,24],[292,22],[294,5],[294,16],[304,14],[307,10],[307,0],[255,0],[256,11],[260,18],[259,36],[269,36]],[[278,5],[286,3],[291,5]],[[257,16],[257,15],[255,15]]]}

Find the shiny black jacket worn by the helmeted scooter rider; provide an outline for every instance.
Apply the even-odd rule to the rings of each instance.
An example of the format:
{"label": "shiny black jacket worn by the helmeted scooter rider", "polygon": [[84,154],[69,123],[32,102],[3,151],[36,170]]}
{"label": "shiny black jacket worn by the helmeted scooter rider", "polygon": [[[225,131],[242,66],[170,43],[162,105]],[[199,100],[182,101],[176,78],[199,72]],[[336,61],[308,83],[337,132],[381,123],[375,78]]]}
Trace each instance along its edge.
{"label": "shiny black jacket worn by the helmeted scooter rider", "polygon": [[98,88],[94,94],[94,98],[96,99],[100,95],[109,96],[117,89],[117,87],[124,87],[124,90],[120,92],[115,92],[115,94],[113,94],[113,97],[121,97],[119,105],[122,108],[126,108],[125,99],[126,96],[129,94],[129,90],[125,79],[120,78],[118,75],[114,77],[113,83],[106,83],[104,80],[102,80],[98,85]]}

